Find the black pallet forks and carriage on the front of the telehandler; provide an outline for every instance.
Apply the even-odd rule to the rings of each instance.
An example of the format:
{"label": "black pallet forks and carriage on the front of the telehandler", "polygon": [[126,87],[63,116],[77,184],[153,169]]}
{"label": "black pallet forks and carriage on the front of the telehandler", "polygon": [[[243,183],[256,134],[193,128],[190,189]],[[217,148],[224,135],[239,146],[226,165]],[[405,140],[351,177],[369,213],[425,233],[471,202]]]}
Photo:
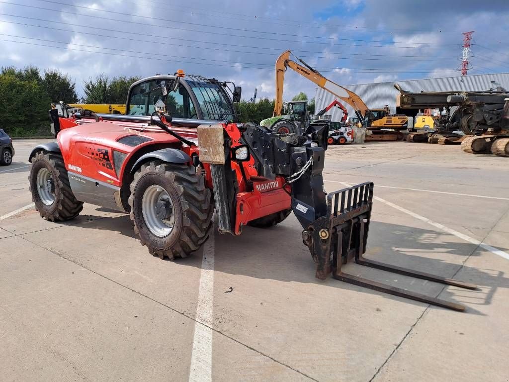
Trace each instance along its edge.
{"label": "black pallet forks and carriage on the front of the telehandler", "polygon": [[327,195],[327,214],[309,224],[302,232],[304,244],[309,248],[317,262],[316,277],[332,277],[350,284],[410,298],[443,308],[463,311],[461,304],[451,303],[439,298],[411,292],[358,276],[346,274],[342,266],[354,260],[357,264],[415,277],[437,283],[454,285],[461,288],[475,289],[477,286],[462,281],[447,279],[425,272],[384,264],[363,257],[366,251],[367,234],[371,221],[373,206],[373,183],[366,182],[344,188]]}

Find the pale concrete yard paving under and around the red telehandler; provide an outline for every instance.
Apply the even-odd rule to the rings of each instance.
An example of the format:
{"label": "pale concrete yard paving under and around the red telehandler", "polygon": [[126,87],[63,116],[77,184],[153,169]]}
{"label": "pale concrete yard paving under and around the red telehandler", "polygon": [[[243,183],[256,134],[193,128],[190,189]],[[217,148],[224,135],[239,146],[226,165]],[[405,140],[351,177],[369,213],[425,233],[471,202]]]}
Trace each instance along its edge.
{"label": "pale concrete yard paving under and around the red telehandler", "polygon": [[366,258],[477,289],[343,270],[466,307],[456,312],[315,278],[294,214],[211,233],[175,261],[139,245],[125,213],[84,204],[69,222],[42,220],[28,158],[47,142],[15,141],[0,168],[0,379],[507,379],[507,158],[408,142],[326,152],[328,192],[375,183]]}

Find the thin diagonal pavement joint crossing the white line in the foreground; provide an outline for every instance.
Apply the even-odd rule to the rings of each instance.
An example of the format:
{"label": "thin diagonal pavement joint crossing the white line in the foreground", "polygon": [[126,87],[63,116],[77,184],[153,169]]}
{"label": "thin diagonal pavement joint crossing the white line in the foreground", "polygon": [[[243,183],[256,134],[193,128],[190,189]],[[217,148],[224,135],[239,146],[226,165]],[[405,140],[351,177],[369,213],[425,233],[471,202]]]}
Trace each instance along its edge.
{"label": "thin diagonal pavement joint crossing the white line in the foreground", "polygon": [[[150,296],[149,296],[149,295],[147,295],[147,294],[144,294],[144,293],[142,293],[142,292],[139,292],[139,291],[137,291],[137,290],[134,290],[134,289],[132,289],[132,288],[128,287],[127,285],[124,285],[124,284],[122,284],[122,283],[119,283],[118,281],[115,281],[115,280],[113,280],[113,279],[110,279],[109,277],[107,277],[107,276],[105,276],[105,275],[101,275],[99,272],[96,272],[95,270],[93,270],[93,269],[91,269],[91,268],[88,268],[87,266],[85,266],[85,265],[83,265],[83,264],[81,264],[81,263],[79,263],[79,262],[77,262],[77,261],[75,261],[75,260],[72,260],[72,259],[70,259],[70,258],[66,257],[64,254],[62,254],[62,253],[60,253],[60,252],[58,252],[58,251],[54,251],[54,250],[51,250],[51,249],[49,249],[49,248],[45,248],[45,247],[43,247],[42,245],[40,245],[40,244],[38,244],[38,243],[36,243],[36,242],[33,242],[33,241],[31,241],[31,240],[27,239],[26,237],[23,237],[23,236],[19,236],[19,237],[20,237],[20,238],[22,238],[23,240],[28,241],[28,242],[29,242],[29,243],[31,243],[31,244],[36,245],[36,247],[42,248],[42,249],[43,249],[43,250],[45,250],[45,251],[51,252],[52,254],[54,254],[54,255],[56,255],[56,256],[59,256],[59,257],[63,258],[64,260],[70,261],[71,263],[74,263],[74,264],[76,264],[77,266],[80,266],[80,267],[82,267],[82,268],[84,268],[84,269],[87,269],[89,272],[92,272],[93,274],[95,274],[95,275],[97,275],[97,276],[99,276],[99,277],[102,277],[102,278],[104,278],[104,279],[106,279],[106,280],[108,280],[108,281],[110,281],[110,282],[112,282],[112,283],[115,283],[115,284],[117,284],[117,285],[121,286],[122,288],[125,288],[125,289],[127,289],[127,290],[130,290],[131,292],[134,292],[134,293],[136,293],[136,294],[138,294],[138,295],[142,296],[142,297],[145,297],[145,298],[149,299],[150,301],[152,301],[153,303],[156,303],[156,304],[158,304],[158,305],[161,305],[162,307],[164,307],[164,308],[166,308],[166,309],[169,309],[169,310],[171,310],[171,311],[173,311],[173,312],[175,312],[175,313],[177,313],[177,314],[180,314],[180,315],[181,315],[181,316],[183,316],[183,317],[186,317],[186,318],[188,318],[188,319],[190,319],[190,320],[192,320],[192,321],[194,321],[194,322],[197,322],[197,321],[196,321],[196,319],[195,319],[195,318],[193,318],[193,317],[191,317],[190,315],[188,315],[188,314],[186,314],[186,313],[184,313],[184,312],[181,312],[181,311],[177,310],[176,308],[172,308],[172,307],[171,307],[171,306],[169,306],[169,305],[166,305],[166,304],[164,304],[164,303],[161,303],[160,301],[157,301],[155,298],[152,298],[152,297],[150,297]],[[199,323],[200,323],[200,322],[199,322]],[[302,375],[302,376],[304,376],[304,377],[306,377],[306,378],[308,378],[308,379],[310,379],[310,380],[313,380],[313,381],[315,381],[315,382],[320,382],[318,379],[315,379],[315,378],[313,378],[312,376],[307,375],[307,374],[306,374],[306,373],[304,373],[303,371],[300,371],[300,370],[298,370],[298,369],[296,369],[296,368],[294,368],[294,367],[292,367],[292,366],[290,366],[290,365],[287,365],[287,364],[285,364],[285,363],[284,363],[284,362],[282,362],[282,361],[278,361],[278,360],[276,360],[274,357],[269,356],[268,354],[264,353],[263,351],[258,350],[258,349],[255,349],[254,347],[249,346],[249,345],[245,344],[244,342],[242,342],[242,341],[240,341],[240,340],[237,340],[237,339],[233,338],[232,336],[230,336],[230,335],[228,335],[228,334],[226,334],[226,333],[221,332],[220,330],[214,329],[214,328],[212,328],[210,325],[208,325],[208,324],[206,324],[206,323],[200,323],[200,324],[201,324],[201,325],[203,325],[203,326],[207,326],[207,328],[209,328],[211,331],[213,331],[213,332],[215,332],[215,333],[217,333],[217,334],[219,334],[219,335],[221,335],[221,336],[223,336],[223,337],[225,337],[225,338],[228,338],[228,339],[230,339],[230,340],[232,340],[232,341],[234,341],[234,342],[238,343],[239,345],[242,345],[242,346],[246,347],[247,349],[249,349],[249,350],[251,350],[251,351],[254,351],[254,352],[258,353],[258,354],[260,354],[261,356],[263,356],[263,357],[265,357],[265,358],[268,358],[269,360],[271,360],[271,361],[273,361],[273,362],[275,362],[275,363],[277,363],[277,364],[279,364],[279,365],[281,365],[281,366],[284,366],[284,367],[286,367],[286,368],[288,368],[288,369],[290,369],[290,370],[292,370],[292,371],[295,371],[296,373],[298,373],[298,374],[300,374],[300,375]]]}

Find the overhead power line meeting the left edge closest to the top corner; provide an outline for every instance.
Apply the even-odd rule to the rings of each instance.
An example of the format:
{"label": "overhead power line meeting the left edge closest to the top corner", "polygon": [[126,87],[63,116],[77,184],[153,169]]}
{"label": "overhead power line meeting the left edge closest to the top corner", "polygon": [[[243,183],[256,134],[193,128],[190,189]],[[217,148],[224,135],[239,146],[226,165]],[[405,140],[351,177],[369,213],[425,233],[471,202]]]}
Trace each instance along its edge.
{"label": "overhead power line meeting the left edge closest to the top corner", "polygon": [[[47,0],[39,0],[39,1],[47,1]],[[194,30],[194,29],[178,28],[176,26],[147,24],[145,22],[137,22],[137,21],[114,19],[114,18],[111,18],[111,17],[102,17],[102,16],[97,16],[97,15],[86,15],[86,14],[82,14],[82,13],[63,11],[63,10],[59,10],[59,9],[48,9],[48,8],[44,8],[44,7],[36,7],[36,6],[32,6],[32,5],[17,4],[17,3],[10,3],[10,2],[4,2],[4,1],[0,1],[0,4],[9,4],[9,5],[20,6],[20,7],[24,7],[24,8],[41,9],[41,10],[44,10],[44,11],[61,12],[61,13],[66,13],[66,14],[71,14],[71,15],[76,15],[76,16],[81,16],[81,17],[92,17],[94,19],[107,20],[108,22],[118,21],[118,22],[125,22],[125,23],[129,23],[129,24],[143,25],[145,27],[147,25],[152,25],[152,26],[157,26],[157,28],[179,30],[179,31],[186,31],[186,32],[205,33],[205,34],[212,34],[212,35],[219,35],[219,36],[240,37],[240,38],[256,38],[256,39],[269,40],[269,41],[284,41],[284,42],[287,42],[287,43],[294,42],[294,43],[313,43],[313,44],[335,45],[335,46],[367,46],[367,47],[397,48],[397,49],[401,49],[402,48],[402,46],[391,46],[391,45],[342,44],[342,43],[331,43],[331,42],[297,41],[297,40],[288,40],[288,39],[275,39],[275,38],[260,37],[260,36],[258,36],[258,37],[243,36],[243,35],[234,35],[232,33],[219,33],[219,32],[211,32],[211,31],[200,31],[200,30]],[[91,8],[91,10],[95,10],[95,9]],[[133,16],[135,16],[135,15],[133,15]],[[168,20],[165,20],[165,21],[167,22]],[[421,44],[426,44],[426,43],[421,43]],[[407,48],[419,48],[419,49],[456,49],[456,47],[445,47],[445,46],[406,46],[406,47]]]}

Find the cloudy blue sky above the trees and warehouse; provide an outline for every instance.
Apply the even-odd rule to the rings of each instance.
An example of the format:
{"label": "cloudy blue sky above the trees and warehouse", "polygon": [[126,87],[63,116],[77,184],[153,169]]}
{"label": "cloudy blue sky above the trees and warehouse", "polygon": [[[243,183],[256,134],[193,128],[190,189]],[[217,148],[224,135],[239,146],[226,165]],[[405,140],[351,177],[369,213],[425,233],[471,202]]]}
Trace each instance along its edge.
{"label": "cloudy blue sky above the trees and warehouse", "polygon": [[[294,53],[341,85],[509,71],[509,2],[343,0],[0,1],[0,66],[60,69],[76,81],[104,73],[184,69],[233,80],[249,99],[274,97],[274,62]],[[286,75],[285,99],[314,85]]]}

